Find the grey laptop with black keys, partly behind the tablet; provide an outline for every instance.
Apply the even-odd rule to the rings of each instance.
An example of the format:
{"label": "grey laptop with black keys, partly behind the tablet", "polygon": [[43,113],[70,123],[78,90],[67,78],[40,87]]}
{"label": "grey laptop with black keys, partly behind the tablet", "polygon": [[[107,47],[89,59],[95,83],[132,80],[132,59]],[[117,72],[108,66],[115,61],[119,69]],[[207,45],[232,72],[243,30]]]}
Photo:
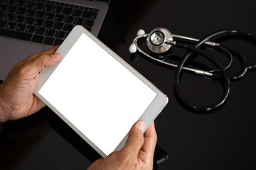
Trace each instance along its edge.
{"label": "grey laptop with black keys, partly behind the tablet", "polygon": [[97,36],[110,0],[0,0],[0,79],[29,55],[60,45],[76,25]]}

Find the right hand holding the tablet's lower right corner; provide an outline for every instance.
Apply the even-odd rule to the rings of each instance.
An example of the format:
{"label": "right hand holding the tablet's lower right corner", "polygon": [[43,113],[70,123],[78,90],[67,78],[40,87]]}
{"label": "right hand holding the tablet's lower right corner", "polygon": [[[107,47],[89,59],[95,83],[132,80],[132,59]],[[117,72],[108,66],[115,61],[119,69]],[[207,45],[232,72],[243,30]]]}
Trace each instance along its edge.
{"label": "right hand holding the tablet's lower right corner", "polygon": [[156,130],[152,123],[143,134],[145,124],[138,121],[129,132],[123,149],[112,152],[105,159],[97,159],[87,170],[97,169],[153,169]]}

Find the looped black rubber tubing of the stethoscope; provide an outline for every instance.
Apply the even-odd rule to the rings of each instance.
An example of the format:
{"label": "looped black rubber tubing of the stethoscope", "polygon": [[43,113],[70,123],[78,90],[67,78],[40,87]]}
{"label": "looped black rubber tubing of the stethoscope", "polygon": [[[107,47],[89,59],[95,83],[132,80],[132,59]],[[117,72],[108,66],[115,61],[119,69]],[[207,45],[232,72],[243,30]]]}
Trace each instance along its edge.
{"label": "looped black rubber tubing of the stethoscope", "polygon": [[[206,35],[204,38],[202,38],[201,40],[199,40],[196,45],[194,47],[198,48],[201,45],[203,45],[205,42],[212,40],[212,39],[216,39],[218,37],[222,37],[224,38],[225,36],[230,36],[230,35],[243,35],[243,36],[250,36],[250,38],[253,38],[256,40],[255,36],[247,33],[245,31],[242,30],[219,30],[216,31],[214,33],[210,33],[209,35]],[[181,47],[181,46],[180,46]],[[193,47],[193,48],[194,48]],[[231,49],[230,49],[231,50]],[[209,113],[209,111],[213,111],[217,108],[219,108],[220,106],[223,105],[223,103],[225,103],[225,101],[228,98],[228,94],[230,92],[230,79],[237,79],[240,77],[243,77],[245,75],[245,73],[247,72],[248,67],[246,66],[246,60],[245,57],[241,54],[239,54],[238,52],[235,52],[235,50],[233,50],[233,52],[235,52],[238,56],[242,56],[240,57],[240,60],[242,62],[242,71],[235,76],[231,76],[231,74],[227,74],[227,72],[225,71],[225,69],[223,69],[223,67],[221,66],[221,64],[215,60],[213,57],[210,57],[209,55],[205,54],[204,56],[210,60],[211,62],[213,62],[213,64],[215,64],[216,67],[218,67],[218,71],[220,74],[222,74],[223,77],[223,81],[224,81],[224,92],[223,92],[223,96],[215,103],[208,105],[208,106],[197,106],[189,101],[186,100],[186,98],[183,97],[183,95],[181,94],[180,88],[179,88],[179,80],[181,78],[181,70],[183,65],[186,63],[186,61],[188,60],[189,57],[191,57],[194,52],[196,50],[191,49],[188,50],[188,52],[186,52],[185,55],[183,55],[181,62],[179,62],[178,67],[175,70],[175,75],[174,75],[174,91],[176,96],[178,96],[178,99],[181,103],[183,103],[188,109],[190,109],[191,111],[196,111],[197,113],[201,113],[201,112],[206,112]],[[196,52],[200,53],[201,50],[198,50]],[[202,55],[202,53],[201,53]],[[218,77],[220,77],[220,74],[218,74]],[[215,75],[213,75],[214,77]]]}

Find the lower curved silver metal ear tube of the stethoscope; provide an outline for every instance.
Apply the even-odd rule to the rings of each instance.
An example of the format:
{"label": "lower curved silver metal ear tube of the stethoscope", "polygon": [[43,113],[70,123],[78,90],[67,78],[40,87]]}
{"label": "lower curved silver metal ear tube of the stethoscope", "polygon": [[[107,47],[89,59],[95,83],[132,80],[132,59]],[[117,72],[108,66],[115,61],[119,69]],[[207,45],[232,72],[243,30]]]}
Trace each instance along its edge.
{"label": "lower curved silver metal ear tube of the stethoscope", "polygon": [[[139,35],[139,36],[137,36],[136,38],[134,38],[133,43],[134,43],[134,45],[136,45],[137,50],[138,50],[139,52],[141,52],[143,55],[145,55],[146,57],[149,57],[151,60],[154,60],[154,61],[156,61],[156,62],[160,62],[161,64],[169,65],[169,66],[171,66],[171,67],[175,67],[175,68],[178,67],[178,65],[176,65],[176,64],[171,64],[171,63],[169,63],[169,62],[164,62],[164,61],[161,61],[161,60],[158,60],[158,59],[152,57],[151,55],[146,54],[146,52],[144,52],[144,51],[139,47],[139,45],[137,44],[137,40],[138,40],[139,38],[144,38],[144,37],[146,37],[146,36],[148,36],[148,35],[149,35],[149,34]],[[174,42],[174,43],[175,43],[175,42]],[[208,77],[212,77],[212,76],[213,76],[212,73],[203,71],[203,70],[201,70],[201,69],[191,69],[191,68],[189,68],[189,67],[182,67],[182,69],[185,69],[185,70],[187,70],[187,71],[189,71],[189,72],[193,72],[193,73],[195,73],[195,74],[199,74],[199,75],[202,75],[202,76],[208,76]]]}

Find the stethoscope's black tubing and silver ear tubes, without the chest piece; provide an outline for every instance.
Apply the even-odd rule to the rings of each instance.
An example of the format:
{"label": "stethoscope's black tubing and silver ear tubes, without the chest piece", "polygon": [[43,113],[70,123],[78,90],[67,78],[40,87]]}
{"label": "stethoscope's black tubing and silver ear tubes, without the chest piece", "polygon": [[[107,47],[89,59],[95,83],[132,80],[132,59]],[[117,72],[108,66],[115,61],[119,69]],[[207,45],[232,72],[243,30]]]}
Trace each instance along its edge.
{"label": "stethoscope's black tubing and silver ear tubes, without the chest piece", "polygon": [[[174,92],[175,92],[176,96],[178,96],[177,98],[178,98],[178,101],[180,103],[185,105],[186,108],[188,108],[191,111],[196,111],[197,113],[202,113],[202,112],[209,113],[210,111],[214,111],[216,108],[219,108],[220,106],[222,106],[223,103],[225,103],[225,101],[227,100],[228,95],[230,93],[230,80],[240,79],[245,75],[247,70],[256,69],[256,64],[250,64],[250,65],[247,66],[245,56],[242,55],[240,52],[238,52],[236,50],[233,50],[230,47],[225,47],[223,45],[220,45],[219,43],[210,41],[210,40],[217,40],[218,38],[227,38],[230,35],[241,35],[243,37],[245,36],[247,38],[251,38],[252,40],[254,40],[256,42],[256,36],[255,35],[253,35],[251,33],[248,33],[248,32],[245,32],[245,31],[242,31],[242,30],[233,30],[233,29],[218,30],[218,31],[215,31],[214,33],[210,33],[210,34],[206,35],[204,38],[201,38],[200,40],[196,39],[196,38],[189,38],[189,37],[182,36],[182,35],[171,35],[173,38],[180,38],[180,39],[183,39],[183,40],[196,42],[196,45],[191,46],[191,45],[186,45],[186,44],[183,44],[183,43],[176,42],[173,39],[164,41],[164,43],[166,43],[166,44],[169,43],[170,45],[174,45],[176,47],[181,47],[185,50],[188,50],[188,52],[186,52],[186,54],[183,55],[183,57],[181,59],[181,62],[179,62],[179,64],[172,64],[172,63],[169,63],[169,62],[164,62],[164,61],[156,59],[155,57],[152,57],[151,55],[148,55],[146,52],[144,52],[139,47],[138,40],[140,38],[148,38],[148,36],[150,36],[149,34],[138,35],[136,38],[134,38],[133,44],[137,47],[138,52],[142,53],[142,55],[148,57],[149,59],[154,60],[155,62],[159,62],[159,63],[164,64],[164,65],[176,68],[176,71],[175,71],[175,74],[174,74]],[[215,60],[215,58],[208,55],[208,53],[199,49],[199,47],[201,47],[201,45],[210,45],[210,46],[213,46],[213,47],[220,47],[222,50],[225,50],[226,52],[229,53],[229,55],[231,57],[230,58],[230,63],[233,61],[233,57],[232,57],[231,53],[233,55],[236,55],[238,57],[238,59],[240,60],[240,62],[241,62],[242,69],[240,70],[240,72],[238,74],[228,74],[228,72],[226,72],[225,69],[230,67],[230,64],[228,65],[228,67],[223,68],[223,66],[218,62],[218,60]],[[183,67],[184,64],[188,61],[188,58],[191,57],[195,52],[199,55],[203,55],[210,62],[213,62],[215,67],[217,67],[218,69],[213,70],[213,71],[204,71],[204,70],[201,70],[201,69],[192,69],[192,68],[189,68],[189,67]],[[195,104],[187,101],[186,98],[184,98],[183,95],[181,94],[181,91],[180,91],[180,88],[179,88],[179,80],[181,78],[181,71],[182,70],[187,70],[187,71],[193,72],[195,74],[201,74],[203,76],[212,77],[213,79],[217,78],[217,79],[222,80],[223,81],[223,87],[224,87],[223,95],[221,96],[221,98],[218,101],[216,101],[213,104],[207,105],[207,106],[198,106],[198,105],[195,105]]]}

